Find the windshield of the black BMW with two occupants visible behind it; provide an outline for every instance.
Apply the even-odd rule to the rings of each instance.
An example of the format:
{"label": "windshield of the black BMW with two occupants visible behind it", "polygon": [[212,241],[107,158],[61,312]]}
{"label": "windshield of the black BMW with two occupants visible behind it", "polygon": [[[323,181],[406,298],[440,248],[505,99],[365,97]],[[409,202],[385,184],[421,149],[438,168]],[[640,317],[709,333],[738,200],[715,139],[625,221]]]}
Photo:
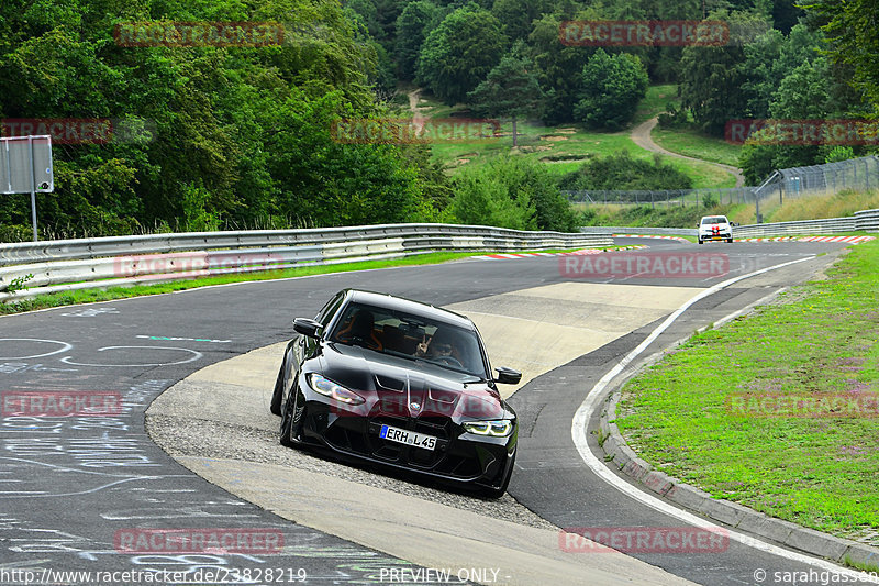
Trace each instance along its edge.
{"label": "windshield of the black BMW with two occupants visible behind it", "polygon": [[422,316],[349,303],[327,340],[486,378],[486,365],[474,330]]}

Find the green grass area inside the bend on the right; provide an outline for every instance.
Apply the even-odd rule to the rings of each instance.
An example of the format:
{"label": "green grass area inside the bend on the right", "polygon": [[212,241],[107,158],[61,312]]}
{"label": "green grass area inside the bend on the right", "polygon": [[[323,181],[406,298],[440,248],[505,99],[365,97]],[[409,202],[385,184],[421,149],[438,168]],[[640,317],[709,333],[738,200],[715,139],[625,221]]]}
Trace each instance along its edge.
{"label": "green grass area inside the bend on the right", "polygon": [[[879,241],[785,298],[630,382],[616,424],[645,460],[715,498],[877,545],[879,412],[865,406],[879,391]],[[860,408],[791,417],[759,402],[816,394]]]}

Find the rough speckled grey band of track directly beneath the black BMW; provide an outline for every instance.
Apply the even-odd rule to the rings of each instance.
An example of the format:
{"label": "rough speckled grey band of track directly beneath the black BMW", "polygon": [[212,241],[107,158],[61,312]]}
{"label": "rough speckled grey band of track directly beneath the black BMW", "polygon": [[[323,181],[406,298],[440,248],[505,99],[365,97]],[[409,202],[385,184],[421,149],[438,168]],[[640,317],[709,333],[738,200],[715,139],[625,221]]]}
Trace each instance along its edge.
{"label": "rough speckled grey band of track directly beneath the black BMW", "polygon": [[[268,416],[267,417],[274,417]],[[280,421],[280,418],[276,418]],[[452,490],[414,484],[416,478],[401,478],[393,472],[377,474],[312,455],[307,450],[289,449],[278,443],[278,433],[247,425],[230,425],[196,418],[147,416],[146,431],[159,447],[170,456],[215,457],[290,466],[326,474],[345,480],[382,488],[431,502],[447,505],[493,519],[530,526],[537,529],[558,530],[509,494],[491,500]]]}

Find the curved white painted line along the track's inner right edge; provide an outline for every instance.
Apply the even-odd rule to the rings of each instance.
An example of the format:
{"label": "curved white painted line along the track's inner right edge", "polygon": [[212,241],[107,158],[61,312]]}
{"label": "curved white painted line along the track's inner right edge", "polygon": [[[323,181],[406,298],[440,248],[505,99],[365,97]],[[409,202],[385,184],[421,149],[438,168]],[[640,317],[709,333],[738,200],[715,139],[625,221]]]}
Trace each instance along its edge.
{"label": "curved white painted line along the track's inner right edge", "polygon": [[771,555],[776,555],[779,557],[785,557],[787,560],[791,560],[793,562],[800,562],[803,564],[809,564],[812,566],[820,567],[822,570],[826,570],[830,572],[834,572],[841,575],[846,575],[848,577],[855,579],[867,579],[872,582],[874,584],[879,584],[879,578],[867,577],[861,574],[859,571],[849,570],[837,564],[819,560],[816,557],[812,557],[805,554],[791,552],[783,548],[779,548],[778,545],[774,545],[771,543],[767,543],[759,539],[753,538],[750,535],[746,535],[744,533],[739,533],[734,530],[730,530],[727,528],[721,527],[719,524],[712,523],[711,521],[703,519],[697,515],[688,512],[683,509],[680,509],[665,500],[661,500],[653,495],[648,495],[641,489],[636,488],[635,486],[628,484],[627,482],[623,480],[619,476],[616,476],[611,469],[592,453],[589,449],[586,439],[586,424],[589,421],[592,412],[599,406],[599,399],[601,397],[602,391],[613,380],[616,375],[619,375],[632,361],[634,361],[644,350],[647,349],[664,331],[668,329],[671,323],[675,322],[687,309],[689,309],[693,303],[699,301],[700,299],[704,299],[705,297],[713,295],[721,289],[728,287],[739,280],[754,277],[756,275],[761,275],[764,273],[768,273],[769,270],[775,270],[777,268],[782,268],[785,266],[790,266],[795,263],[802,263],[803,261],[810,261],[814,258],[814,256],[810,256],[806,258],[799,258],[797,261],[790,261],[788,263],[782,263],[780,265],[770,266],[767,268],[761,268],[760,270],[756,270],[754,273],[748,273],[747,275],[741,275],[738,277],[734,277],[732,279],[724,280],[723,283],[719,283],[713,287],[705,289],[704,291],[700,292],[689,301],[685,302],[680,308],[678,308],[671,316],[669,316],[661,324],[659,324],[650,335],[648,335],[636,349],[630,352],[623,360],[621,360],[616,366],[611,368],[608,374],[601,377],[594,387],[589,391],[583,399],[583,402],[577,409],[577,412],[574,414],[574,421],[571,422],[570,434],[571,439],[574,440],[574,444],[577,446],[577,451],[580,453],[580,457],[582,457],[586,465],[596,473],[596,475],[604,480],[607,484],[611,485],[612,487],[616,488],[621,493],[625,494],[626,496],[637,500],[642,505],[645,505],[656,511],[663,512],[668,515],[669,517],[674,517],[680,521],[686,523],[690,523],[694,527],[700,527],[704,529],[714,529],[714,530],[723,530],[727,531],[730,539],[735,540],[743,545],[754,548],[756,550],[764,551]]}

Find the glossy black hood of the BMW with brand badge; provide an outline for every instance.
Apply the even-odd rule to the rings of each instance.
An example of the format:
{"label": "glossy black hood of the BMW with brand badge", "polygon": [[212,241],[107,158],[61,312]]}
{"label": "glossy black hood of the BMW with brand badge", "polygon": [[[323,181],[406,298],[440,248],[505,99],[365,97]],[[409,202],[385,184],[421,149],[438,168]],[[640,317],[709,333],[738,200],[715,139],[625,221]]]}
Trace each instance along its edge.
{"label": "glossy black hood of the BMW with brand badge", "polygon": [[309,366],[360,395],[366,402],[359,410],[370,417],[515,417],[487,380],[425,361],[329,343]]}

